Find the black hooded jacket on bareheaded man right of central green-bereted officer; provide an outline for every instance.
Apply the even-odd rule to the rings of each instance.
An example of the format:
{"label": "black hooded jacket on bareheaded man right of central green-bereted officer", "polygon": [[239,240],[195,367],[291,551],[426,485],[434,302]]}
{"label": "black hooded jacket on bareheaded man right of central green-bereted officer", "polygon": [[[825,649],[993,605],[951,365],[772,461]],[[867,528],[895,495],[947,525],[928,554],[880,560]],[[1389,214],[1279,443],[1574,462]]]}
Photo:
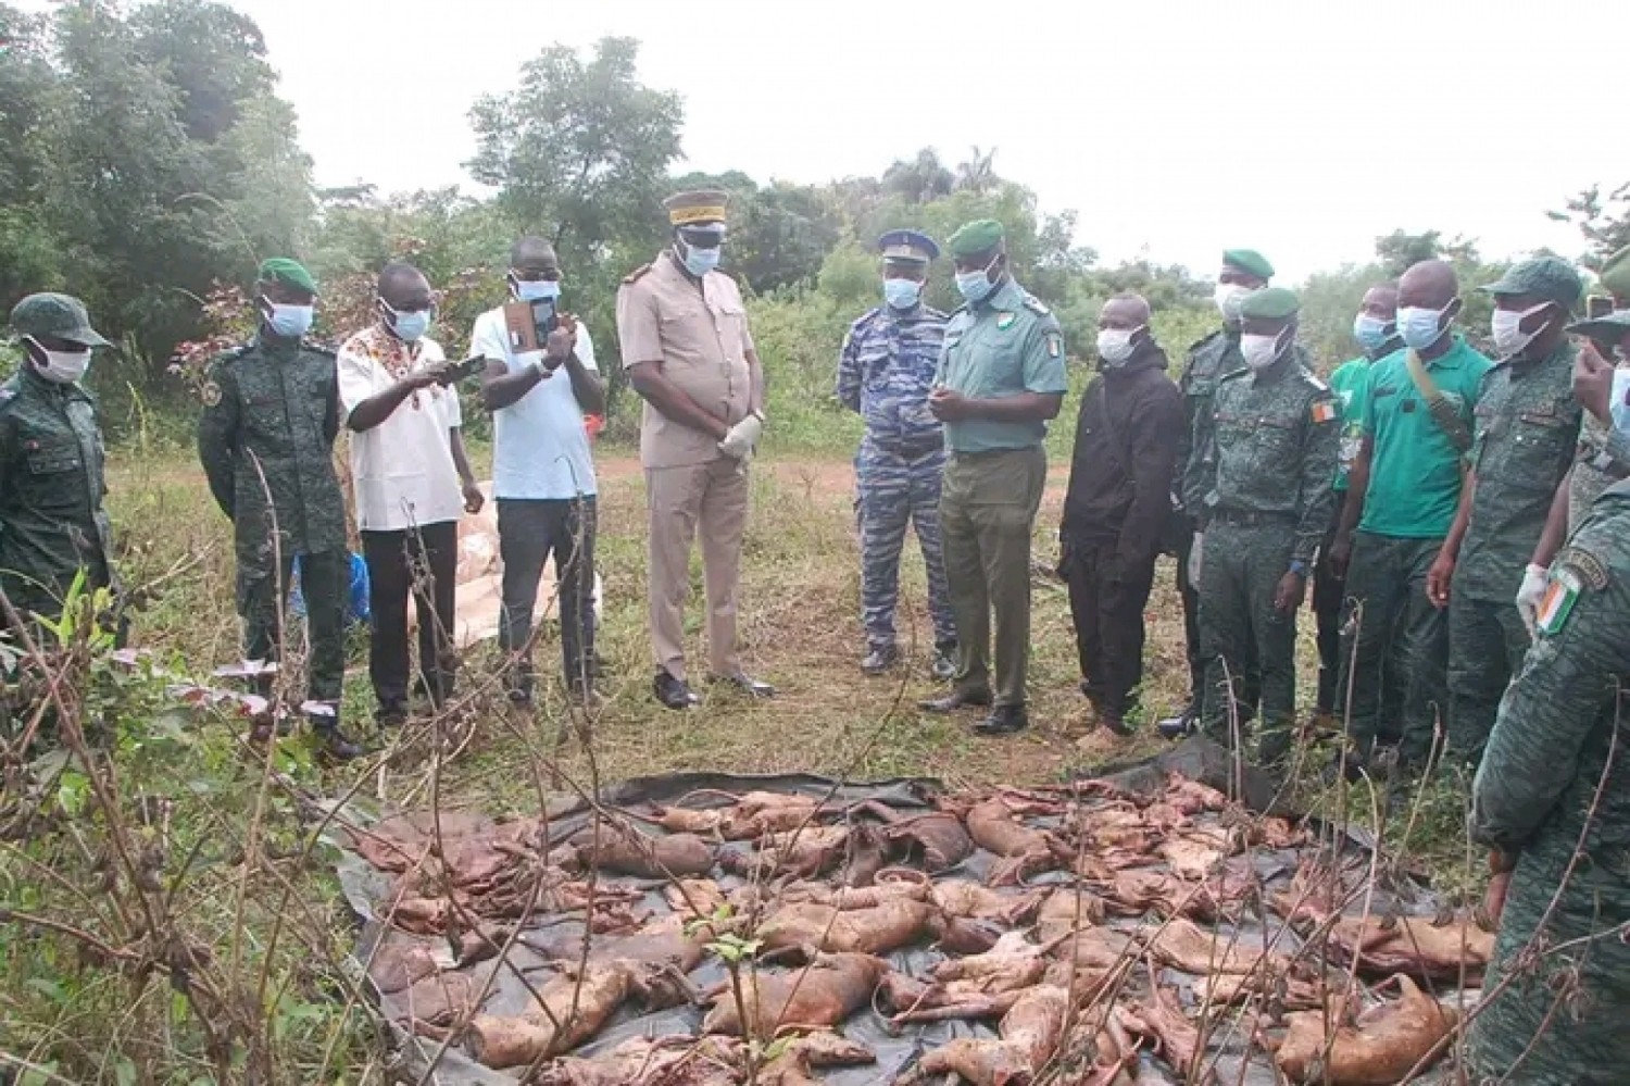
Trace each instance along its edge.
{"label": "black hooded jacket on bareheaded man right of central green-bereted officer", "polygon": [[1165,352],[1144,339],[1121,367],[1104,367],[1081,396],[1063,536],[1118,540],[1121,561],[1152,561],[1172,509],[1183,440],[1183,395]]}

